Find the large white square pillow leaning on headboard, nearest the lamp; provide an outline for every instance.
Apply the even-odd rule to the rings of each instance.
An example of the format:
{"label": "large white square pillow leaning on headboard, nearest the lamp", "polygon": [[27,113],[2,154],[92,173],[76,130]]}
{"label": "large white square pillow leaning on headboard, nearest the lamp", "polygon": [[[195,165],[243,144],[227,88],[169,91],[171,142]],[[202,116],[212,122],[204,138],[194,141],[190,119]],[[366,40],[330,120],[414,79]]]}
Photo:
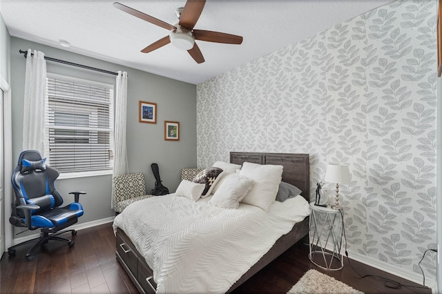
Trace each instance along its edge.
{"label": "large white square pillow leaning on headboard, nearest the lamp", "polygon": [[252,164],[244,162],[240,175],[253,179],[253,188],[241,202],[258,206],[268,211],[272,202],[276,199],[278,185],[282,175],[282,166],[270,164]]}

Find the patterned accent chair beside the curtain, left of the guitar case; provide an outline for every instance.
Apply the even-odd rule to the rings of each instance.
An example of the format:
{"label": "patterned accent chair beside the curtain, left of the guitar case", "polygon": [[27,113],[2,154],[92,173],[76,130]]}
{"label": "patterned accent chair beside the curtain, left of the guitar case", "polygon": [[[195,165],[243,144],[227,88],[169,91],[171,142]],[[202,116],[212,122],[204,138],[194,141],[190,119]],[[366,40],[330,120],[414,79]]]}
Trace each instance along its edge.
{"label": "patterned accent chair beside the curtain, left of the guitar case", "polygon": [[133,202],[153,196],[146,195],[146,184],[142,173],[113,177],[112,189],[114,195],[113,210],[115,210],[115,213],[121,213],[124,208]]}

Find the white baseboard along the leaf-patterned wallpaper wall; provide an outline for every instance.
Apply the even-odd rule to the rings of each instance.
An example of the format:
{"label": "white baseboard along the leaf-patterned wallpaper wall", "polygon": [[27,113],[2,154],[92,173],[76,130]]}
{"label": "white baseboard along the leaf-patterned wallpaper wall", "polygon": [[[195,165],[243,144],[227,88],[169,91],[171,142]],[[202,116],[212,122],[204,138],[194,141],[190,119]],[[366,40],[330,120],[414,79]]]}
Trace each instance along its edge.
{"label": "white baseboard along the leaf-patterned wallpaper wall", "polygon": [[[333,251],[332,244],[327,244],[325,247],[329,251]],[[343,246],[342,248],[343,256],[345,257],[345,248]],[[423,276],[419,273],[414,273],[410,271],[405,271],[402,268],[394,265],[389,264],[387,262],[381,262],[381,260],[376,259],[374,257],[371,257],[369,255],[363,255],[361,253],[356,253],[353,251],[348,251],[348,255],[350,259],[354,259],[357,262],[362,262],[363,264],[367,264],[367,266],[372,266],[374,268],[378,268],[381,271],[386,271],[387,273],[391,273],[392,275],[397,275],[398,277],[402,277],[403,279],[409,280],[411,282],[414,282],[416,284],[422,285],[423,282]],[[436,280],[434,278],[425,277],[425,286],[432,289],[432,293],[436,293]]]}

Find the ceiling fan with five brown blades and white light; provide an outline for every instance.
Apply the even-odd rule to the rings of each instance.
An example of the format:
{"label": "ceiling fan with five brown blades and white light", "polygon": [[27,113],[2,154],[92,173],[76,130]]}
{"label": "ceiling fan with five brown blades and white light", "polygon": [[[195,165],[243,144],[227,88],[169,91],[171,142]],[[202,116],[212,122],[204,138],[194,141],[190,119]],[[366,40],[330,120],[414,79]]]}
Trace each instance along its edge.
{"label": "ceiling fan with five brown blades and white light", "polygon": [[171,31],[169,33],[169,36],[166,36],[162,39],[159,39],[158,41],[151,43],[151,45],[141,50],[141,52],[152,52],[153,50],[161,48],[168,43],[172,43],[177,48],[187,50],[187,52],[189,52],[191,57],[195,59],[197,63],[203,63],[204,57],[202,56],[200,48],[195,43],[195,40],[227,44],[242,43],[241,36],[226,34],[224,32],[214,32],[211,30],[193,30],[193,27],[200,18],[200,14],[202,12],[202,8],[204,8],[205,3],[206,0],[187,0],[184,8],[178,8],[175,12],[178,19],[180,19],[180,21],[175,26],[161,21],[160,19],[155,19],[155,17],[151,17],[148,14],[144,14],[143,12],[140,12],[128,6],[124,6],[123,4],[118,2],[113,3],[113,6],[119,10],[133,15],[134,17],[138,17],[140,19],[143,19],[144,21],[148,21],[156,26],[160,26]]}

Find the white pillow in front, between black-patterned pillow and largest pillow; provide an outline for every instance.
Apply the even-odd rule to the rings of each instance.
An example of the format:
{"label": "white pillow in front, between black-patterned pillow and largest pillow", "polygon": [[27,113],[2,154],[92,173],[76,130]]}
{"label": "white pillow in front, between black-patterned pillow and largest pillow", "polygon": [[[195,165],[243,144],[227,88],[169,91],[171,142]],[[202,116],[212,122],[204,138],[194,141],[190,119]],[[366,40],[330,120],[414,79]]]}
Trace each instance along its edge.
{"label": "white pillow in front, between black-patterned pillow and largest pillow", "polygon": [[225,177],[220,188],[210,199],[209,204],[223,208],[238,209],[240,201],[244,198],[253,186],[253,180],[242,175],[231,173]]}

